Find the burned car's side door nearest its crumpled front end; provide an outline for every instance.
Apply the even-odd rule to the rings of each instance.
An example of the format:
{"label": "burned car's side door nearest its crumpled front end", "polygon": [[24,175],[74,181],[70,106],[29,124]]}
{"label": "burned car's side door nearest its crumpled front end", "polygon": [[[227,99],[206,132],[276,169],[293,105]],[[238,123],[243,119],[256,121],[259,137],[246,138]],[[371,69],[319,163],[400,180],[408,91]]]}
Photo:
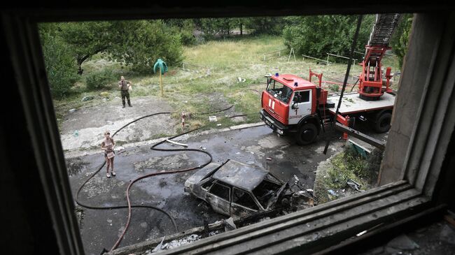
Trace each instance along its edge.
{"label": "burned car's side door nearest its crumpled front end", "polygon": [[251,192],[232,187],[231,216],[236,218],[248,217],[261,209]]}

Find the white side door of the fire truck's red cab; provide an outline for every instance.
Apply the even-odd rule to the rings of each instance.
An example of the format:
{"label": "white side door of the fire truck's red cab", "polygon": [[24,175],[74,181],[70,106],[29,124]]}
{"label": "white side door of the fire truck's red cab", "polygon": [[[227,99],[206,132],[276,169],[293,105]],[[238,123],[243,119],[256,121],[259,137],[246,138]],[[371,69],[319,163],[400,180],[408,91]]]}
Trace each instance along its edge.
{"label": "white side door of the fire truck's red cab", "polygon": [[302,117],[311,115],[311,89],[294,92],[289,108],[289,124],[298,124]]}

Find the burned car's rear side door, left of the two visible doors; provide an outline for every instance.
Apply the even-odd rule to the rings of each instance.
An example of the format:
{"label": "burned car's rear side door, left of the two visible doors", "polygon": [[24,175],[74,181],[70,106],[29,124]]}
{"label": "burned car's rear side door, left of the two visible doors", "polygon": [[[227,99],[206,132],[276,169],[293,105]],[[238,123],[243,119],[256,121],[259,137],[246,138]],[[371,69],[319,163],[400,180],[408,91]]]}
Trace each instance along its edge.
{"label": "burned car's rear side door, left of the two visible doors", "polygon": [[230,215],[230,187],[214,182],[205,196],[205,201],[211,205],[215,212]]}

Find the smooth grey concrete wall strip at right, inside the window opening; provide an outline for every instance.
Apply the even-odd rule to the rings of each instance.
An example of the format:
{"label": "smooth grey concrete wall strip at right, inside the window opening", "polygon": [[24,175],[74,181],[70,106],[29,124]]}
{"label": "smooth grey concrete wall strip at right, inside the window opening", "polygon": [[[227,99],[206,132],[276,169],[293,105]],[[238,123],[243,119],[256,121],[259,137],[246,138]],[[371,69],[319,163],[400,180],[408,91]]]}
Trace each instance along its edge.
{"label": "smooth grey concrete wall strip at right, inside the window opening", "polygon": [[424,88],[426,85],[431,86],[429,73],[437,61],[440,38],[444,33],[443,19],[443,15],[414,15],[391,130],[379,173],[380,185],[401,180],[405,176],[402,169],[405,167]]}

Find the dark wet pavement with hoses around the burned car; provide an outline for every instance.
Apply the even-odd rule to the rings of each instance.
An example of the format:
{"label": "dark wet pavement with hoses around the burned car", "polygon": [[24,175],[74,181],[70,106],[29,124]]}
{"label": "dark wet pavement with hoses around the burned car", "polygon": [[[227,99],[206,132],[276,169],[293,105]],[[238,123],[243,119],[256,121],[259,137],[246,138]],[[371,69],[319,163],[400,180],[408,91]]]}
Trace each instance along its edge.
{"label": "dark wet pavement with hoses around the burned car", "polygon": [[[201,136],[183,136],[175,139],[188,144],[188,148],[205,148],[213,156],[213,162],[222,163],[234,159],[265,168],[283,180],[297,175],[305,188],[312,189],[318,163],[341,150],[344,142],[339,133],[332,133],[327,154],[323,154],[325,140],[298,146],[292,136],[277,136],[267,126],[211,133]],[[79,201],[92,206],[126,205],[125,191],[131,180],[160,171],[181,170],[199,166],[209,160],[201,152],[158,152],[150,145],[129,147],[118,152],[114,162],[116,177],[106,178],[105,167],[94,175],[80,191]],[[159,148],[181,149],[181,146],[164,143]],[[267,159],[268,158],[268,159]],[[85,180],[102,163],[102,153],[66,159],[73,196]],[[185,180],[194,171],[171,175],[158,175],[136,182],[130,199],[135,205],[153,205],[174,217],[179,231],[203,226],[204,217],[213,223],[227,217],[215,212],[205,213],[197,201],[183,191]],[[76,206],[80,221],[80,233],[85,254],[100,254],[111,249],[127,222],[127,209],[92,210]],[[147,208],[133,208],[132,221],[119,247],[160,238],[175,233],[174,226],[165,214]]]}

